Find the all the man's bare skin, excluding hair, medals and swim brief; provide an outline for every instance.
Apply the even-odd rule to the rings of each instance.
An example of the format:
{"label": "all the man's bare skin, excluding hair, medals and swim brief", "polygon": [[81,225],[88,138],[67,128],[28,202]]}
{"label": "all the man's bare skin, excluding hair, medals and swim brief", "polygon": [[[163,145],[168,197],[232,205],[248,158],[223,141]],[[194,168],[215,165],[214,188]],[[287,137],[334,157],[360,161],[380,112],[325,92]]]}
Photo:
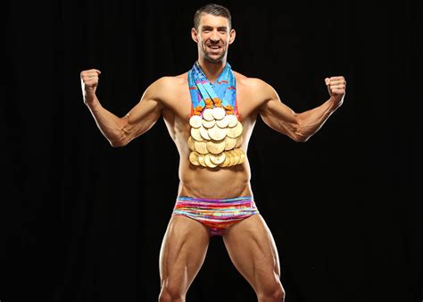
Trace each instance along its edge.
{"label": "all the man's bare skin, excluding hair, medals and swim brief", "polygon": [[[198,29],[191,30],[198,48],[198,62],[207,78],[214,82],[227,62],[228,46],[234,42],[235,29],[226,18],[203,14]],[[343,76],[325,79],[329,98],[303,113],[284,105],[278,93],[260,79],[236,75],[236,97],[244,127],[242,148],[247,147],[257,115],[271,129],[296,142],[311,138],[342,105],[345,94]],[[123,117],[106,110],[95,96],[101,71],[81,72],[84,102],[112,147],[123,147],[153,127],[162,116],[174,140],[179,159],[178,196],[230,198],[253,196],[250,164],[211,170],[189,163],[187,139],[190,135],[191,100],[187,72],[162,77],[145,89],[141,100]],[[223,240],[236,269],[252,285],[258,301],[283,301],[285,290],[280,282],[278,250],[261,214],[254,214],[224,231]],[[159,301],[185,301],[187,290],[199,272],[210,232],[200,222],[182,215],[171,217],[160,251],[161,293]]]}

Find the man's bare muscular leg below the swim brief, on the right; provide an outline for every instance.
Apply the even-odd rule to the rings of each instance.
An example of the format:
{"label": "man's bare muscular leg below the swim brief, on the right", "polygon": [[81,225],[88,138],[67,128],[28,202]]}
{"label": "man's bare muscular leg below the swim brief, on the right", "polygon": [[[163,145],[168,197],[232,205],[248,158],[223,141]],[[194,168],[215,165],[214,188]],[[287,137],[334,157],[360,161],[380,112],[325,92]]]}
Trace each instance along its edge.
{"label": "man's bare muscular leg below the swim brief, on the right", "polygon": [[232,263],[253,286],[258,300],[283,302],[278,250],[261,214],[234,224],[224,232],[223,241]]}

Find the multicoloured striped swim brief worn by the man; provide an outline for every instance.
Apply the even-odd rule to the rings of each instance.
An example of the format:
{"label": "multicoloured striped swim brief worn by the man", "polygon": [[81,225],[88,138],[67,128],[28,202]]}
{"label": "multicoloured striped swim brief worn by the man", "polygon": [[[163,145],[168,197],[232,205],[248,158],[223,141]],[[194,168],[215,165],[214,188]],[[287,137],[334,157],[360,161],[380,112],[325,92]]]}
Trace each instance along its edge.
{"label": "multicoloured striped swim brief worn by the man", "polygon": [[172,213],[203,223],[211,236],[221,236],[225,229],[253,214],[259,211],[251,196],[219,199],[179,196]]}

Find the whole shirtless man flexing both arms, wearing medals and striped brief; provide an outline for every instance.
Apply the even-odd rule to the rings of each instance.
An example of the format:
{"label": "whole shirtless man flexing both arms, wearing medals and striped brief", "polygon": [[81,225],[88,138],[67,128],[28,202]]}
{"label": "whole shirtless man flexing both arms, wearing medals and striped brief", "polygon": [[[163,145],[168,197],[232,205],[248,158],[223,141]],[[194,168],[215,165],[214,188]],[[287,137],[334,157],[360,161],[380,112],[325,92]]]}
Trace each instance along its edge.
{"label": "whole shirtless man flexing both arms, wearing medals and striped brief", "polygon": [[162,116],[178,148],[180,182],[160,252],[159,301],[185,301],[213,235],[222,236],[258,301],[284,301],[278,251],[253,201],[248,142],[257,114],[271,129],[305,142],[342,105],[346,82],[342,76],[325,79],[328,100],[294,113],[269,84],[231,71],[228,46],[236,31],[227,8],[208,4],[197,10],[191,36],[198,48],[193,68],[154,81],[125,116],[107,111],[95,96],[96,69],[80,74],[84,103],[112,147],[126,146]]}

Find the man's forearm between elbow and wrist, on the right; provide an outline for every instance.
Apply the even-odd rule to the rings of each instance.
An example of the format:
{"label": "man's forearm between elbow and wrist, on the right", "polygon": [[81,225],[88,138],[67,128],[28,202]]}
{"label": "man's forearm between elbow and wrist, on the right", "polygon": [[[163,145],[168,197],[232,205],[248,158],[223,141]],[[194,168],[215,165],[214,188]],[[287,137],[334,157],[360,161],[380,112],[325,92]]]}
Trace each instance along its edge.
{"label": "man's forearm between elbow and wrist, on the right", "polygon": [[303,113],[298,113],[298,128],[296,135],[300,141],[306,141],[311,138],[323,124],[328,120],[330,114],[342,105],[342,102],[329,98],[328,101]]}

